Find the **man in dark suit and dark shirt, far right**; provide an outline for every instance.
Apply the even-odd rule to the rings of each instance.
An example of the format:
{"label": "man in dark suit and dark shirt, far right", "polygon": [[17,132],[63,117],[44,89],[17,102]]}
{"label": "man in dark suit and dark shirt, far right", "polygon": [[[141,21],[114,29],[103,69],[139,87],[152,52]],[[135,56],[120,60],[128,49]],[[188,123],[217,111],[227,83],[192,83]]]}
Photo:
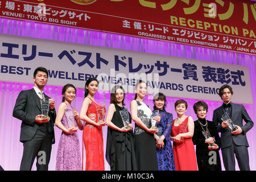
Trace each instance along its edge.
{"label": "man in dark suit and dark shirt, far right", "polygon": [[[240,104],[233,104],[231,98],[233,96],[232,87],[229,85],[221,86],[219,95],[223,101],[223,105],[213,111],[213,122],[218,132],[221,132],[221,153],[226,171],[234,171],[236,154],[238,166],[241,171],[250,171],[249,154],[247,147],[246,133],[253,127],[245,107]],[[222,122],[221,117],[224,111],[228,113],[230,119],[237,127],[233,132],[229,129],[228,122]],[[243,125],[243,120],[246,122]]]}

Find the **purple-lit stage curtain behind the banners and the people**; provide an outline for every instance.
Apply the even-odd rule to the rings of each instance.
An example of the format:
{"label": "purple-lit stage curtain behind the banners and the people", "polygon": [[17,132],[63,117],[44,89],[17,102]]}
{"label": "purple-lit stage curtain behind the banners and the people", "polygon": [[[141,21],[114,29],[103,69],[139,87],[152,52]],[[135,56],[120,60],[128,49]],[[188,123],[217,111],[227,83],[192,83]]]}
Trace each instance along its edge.
{"label": "purple-lit stage curtain behind the banners and the people", "polygon": [[[255,73],[255,65],[256,60],[255,56],[225,52],[225,51],[216,51],[208,48],[200,48],[200,47],[192,47],[192,46],[184,46],[175,43],[167,43],[167,42],[159,42],[156,40],[148,40],[148,39],[140,39],[133,38],[129,36],[121,36],[114,34],[107,34],[102,32],[95,31],[86,31],[86,30],[78,30],[75,28],[65,28],[65,27],[57,27],[57,26],[49,26],[46,24],[38,24],[32,22],[20,22],[17,20],[8,20],[8,19],[0,19],[0,33],[1,34],[11,34],[11,35],[19,35],[19,36],[30,36],[32,38],[41,38],[41,39],[49,39],[49,40],[60,40],[64,42],[72,42],[72,43],[80,43],[80,44],[88,44],[93,46],[101,46],[101,47],[111,47],[111,48],[119,48],[120,51],[122,49],[137,51],[137,52],[147,52],[147,53],[155,53],[159,55],[166,56],[175,56],[175,57],[183,57],[184,59],[197,59],[197,60],[205,60],[216,63],[225,63],[225,64],[234,64],[241,65],[248,68],[249,78],[251,80],[251,93],[252,100],[254,104],[245,104],[245,108],[247,109],[251,119],[255,121],[255,81],[256,77]],[[63,42],[60,42],[60,45]],[[2,53],[1,49],[1,53]],[[5,49],[6,51],[6,49]],[[3,52],[6,53],[6,52]],[[43,59],[42,59],[43,60]],[[48,65],[51,67],[51,64]],[[19,75],[16,75],[19,77]],[[18,79],[18,78],[17,78]],[[53,78],[49,78],[51,81]],[[171,80],[171,78],[170,78]],[[175,78],[174,78],[175,80]],[[71,82],[69,80],[67,82]],[[24,89],[32,88],[32,77],[31,84],[24,84],[19,82],[0,82],[0,164],[6,170],[18,170],[20,165],[20,160],[22,158],[23,146],[22,143],[19,142],[19,134],[20,134],[20,121],[12,117],[12,111],[15,104],[16,97],[19,92]],[[59,107],[61,102],[61,89],[62,86],[46,86],[45,92],[49,97],[52,97],[56,101],[56,108]],[[238,90],[234,90],[234,96]],[[98,92],[96,95],[96,100],[106,101],[106,106],[109,106],[109,98],[110,93],[105,92],[102,96],[102,92]],[[81,104],[84,96],[84,90],[79,89],[77,92],[77,97],[75,101],[73,101],[73,106],[80,111]],[[246,98],[247,95],[244,94],[242,97]],[[126,107],[129,108],[130,101],[134,98],[134,94],[127,94],[125,99]],[[174,111],[174,102],[181,97],[167,97],[167,111],[174,114],[174,118],[176,118],[176,114]],[[199,99],[191,99],[185,98],[188,102],[188,110],[187,115],[191,115],[194,120],[196,120],[196,115],[193,113],[192,106],[195,102],[199,101]],[[146,104],[148,104],[152,108],[152,100],[150,96],[146,96],[145,100]],[[213,110],[222,104],[221,99],[219,101],[210,101],[205,100],[209,106],[209,111],[207,115],[207,119],[212,120]],[[130,110],[130,108],[129,108]],[[106,143],[106,128],[104,127],[104,144]],[[256,169],[256,145],[255,145],[255,127],[251,129],[247,133],[247,139],[249,140],[249,155],[250,155],[250,167],[252,170]],[[82,138],[81,131],[78,131],[80,136],[80,147],[82,147]],[[55,170],[56,164],[56,152],[57,146],[59,144],[61,131],[55,128],[55,137],[56,143],[52,146],[52,155],[51,161],[49,164],[49,170]],[[81,150],[81,148],[80,148]],[[105,163],[105,167],[108,170],[108,163]],[[223,167],[223,166],[222,166]],[[32,168],[35,170],[35,166]],[[224,169],[224,167],[223,167]],[[238,167],[237,167],[238,169]]]}

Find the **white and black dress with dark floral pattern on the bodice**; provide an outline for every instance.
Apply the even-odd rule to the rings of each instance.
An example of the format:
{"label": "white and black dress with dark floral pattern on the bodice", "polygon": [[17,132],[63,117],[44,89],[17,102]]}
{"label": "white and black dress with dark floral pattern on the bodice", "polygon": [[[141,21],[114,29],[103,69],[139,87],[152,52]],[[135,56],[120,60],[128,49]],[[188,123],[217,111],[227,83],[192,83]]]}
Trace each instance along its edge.
{"label": "white and black dress with dark floral pattern on the bodice", "polygon": [[[151,127],[152,111],[144,102],[137,101],[138,117],[148,127]],[[156,143],[154,134],[148,133],[135,123],[135,151],[139,171],[158,171]]]}

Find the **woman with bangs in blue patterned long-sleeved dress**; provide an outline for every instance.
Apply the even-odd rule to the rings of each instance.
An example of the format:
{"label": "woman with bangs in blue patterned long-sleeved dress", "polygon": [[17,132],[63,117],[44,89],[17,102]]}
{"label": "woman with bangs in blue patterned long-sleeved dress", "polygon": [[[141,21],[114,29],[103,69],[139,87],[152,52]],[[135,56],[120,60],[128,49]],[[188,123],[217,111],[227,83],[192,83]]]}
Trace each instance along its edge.
{"label": "woman with bangs in blue patterned long-sleeved dress", "polygon": [[154,134],[156,139],[156,155],[158,156],[159,171],[175,171],[174,153],[172,151],[171,138],[172,114],[167,113],[166,96],[158,93],[154,96],[154,110],[159,110],[161,120],[156,124],[158,133]]}

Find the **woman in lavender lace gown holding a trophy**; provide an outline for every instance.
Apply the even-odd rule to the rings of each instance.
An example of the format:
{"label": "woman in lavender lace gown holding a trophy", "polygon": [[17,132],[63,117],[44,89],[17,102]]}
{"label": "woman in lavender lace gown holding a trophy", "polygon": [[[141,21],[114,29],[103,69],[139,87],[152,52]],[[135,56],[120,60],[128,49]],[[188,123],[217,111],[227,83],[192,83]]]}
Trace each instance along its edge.
{"label": "woman in lavender lace gown holding a trophy", "polygon": [[[56,171],[81,171],[81,154],[77,127],[83,129],[79,113],[73,109],[71,102],[76,97],[76,88],[67,84],[62,89],[63,102],[57,111],[55,125],[63,130],[57,150]],[[73,123],[73,126],[70,123]]]}

